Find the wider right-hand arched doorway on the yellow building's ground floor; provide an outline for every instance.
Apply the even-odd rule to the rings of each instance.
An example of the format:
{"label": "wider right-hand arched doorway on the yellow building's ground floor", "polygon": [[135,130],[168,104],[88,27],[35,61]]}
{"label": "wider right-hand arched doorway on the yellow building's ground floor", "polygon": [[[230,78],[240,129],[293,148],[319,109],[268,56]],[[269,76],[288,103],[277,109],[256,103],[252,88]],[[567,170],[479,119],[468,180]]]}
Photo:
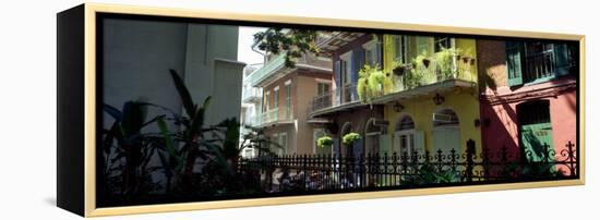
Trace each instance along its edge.
{"label": "wider right-hand arched doorway on the yellow building's ground floor", "polygon": [[449,154],[451,150],[461,152],[460,122],[452,109],[442,109],[433,114],[433,152]]}

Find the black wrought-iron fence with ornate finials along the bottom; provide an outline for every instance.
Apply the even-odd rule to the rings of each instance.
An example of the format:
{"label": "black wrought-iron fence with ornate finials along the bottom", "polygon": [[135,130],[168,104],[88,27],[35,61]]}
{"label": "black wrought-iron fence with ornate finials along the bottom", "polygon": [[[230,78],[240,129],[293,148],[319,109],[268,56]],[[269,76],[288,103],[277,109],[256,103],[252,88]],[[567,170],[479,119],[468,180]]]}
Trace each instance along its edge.
{"label": "black wrought-iron fence with ornate finials along the bottom", "polygon": [[[536,157],[532,157],[532,156]],[[531,158],[535,158],[531,159]],[[467,149],[433,154],[290,155],[241,159],[238,172],[267,192],[322,191],[419,186],[435,184],[561,180],[578,174],[575,145],[555,150],[548,145],[536,150],[506,147],[476,152]]]}

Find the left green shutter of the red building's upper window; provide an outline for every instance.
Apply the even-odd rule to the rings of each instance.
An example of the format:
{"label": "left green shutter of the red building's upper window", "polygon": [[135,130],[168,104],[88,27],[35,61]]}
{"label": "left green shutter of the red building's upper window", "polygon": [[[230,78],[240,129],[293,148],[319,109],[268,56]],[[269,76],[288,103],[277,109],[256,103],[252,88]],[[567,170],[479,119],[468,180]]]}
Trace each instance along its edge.
{"label": "left green shutter of the red building's upper window", "polygon": [[506,69],[508,71],[508,86],[523,84],[523,42],[506,41]]}

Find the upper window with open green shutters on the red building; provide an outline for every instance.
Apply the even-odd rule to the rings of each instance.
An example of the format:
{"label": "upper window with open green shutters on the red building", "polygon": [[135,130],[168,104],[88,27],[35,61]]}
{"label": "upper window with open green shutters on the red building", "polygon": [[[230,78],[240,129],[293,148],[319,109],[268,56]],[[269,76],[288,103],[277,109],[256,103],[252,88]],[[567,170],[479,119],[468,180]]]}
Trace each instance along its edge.
{"label": "upper window with open green shutters on the red building", "polygon": [[541,83],[569,74],[576,66],[574,50],[567,44],[506,41],[508,85]]}

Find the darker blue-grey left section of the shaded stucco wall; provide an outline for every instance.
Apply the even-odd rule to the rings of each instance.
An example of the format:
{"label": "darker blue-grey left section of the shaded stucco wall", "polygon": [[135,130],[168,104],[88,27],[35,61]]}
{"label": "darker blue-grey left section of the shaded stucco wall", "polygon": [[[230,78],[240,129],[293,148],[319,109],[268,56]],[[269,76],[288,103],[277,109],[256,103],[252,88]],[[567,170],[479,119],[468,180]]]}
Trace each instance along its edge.
{"label": "darker blue-grey left section of the shaded stucco wall", "polygon": [[[108,19],[103,28],[104,102],[121,109],[125,101],[141,100],[181,111],[169,69],[184,75],[188,25]],[[104,126],[112,121],[105,118]]]}

